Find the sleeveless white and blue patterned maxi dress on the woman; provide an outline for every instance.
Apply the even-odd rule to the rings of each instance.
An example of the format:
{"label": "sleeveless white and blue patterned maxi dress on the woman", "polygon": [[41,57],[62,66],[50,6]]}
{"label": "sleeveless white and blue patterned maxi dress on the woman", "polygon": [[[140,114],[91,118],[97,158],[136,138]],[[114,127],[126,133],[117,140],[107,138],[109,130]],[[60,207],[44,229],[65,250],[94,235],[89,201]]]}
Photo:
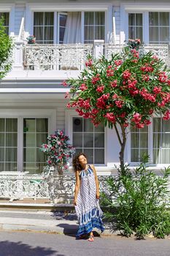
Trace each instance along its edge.
{"label": "sleeveless white and blue patterned maxi dress on the woman", "polygon": [[101,219],[103,212],[96,199],[96,181],[92,168],[80,172],[80,191],[77,195],[77,206],[75,206],[79,228],[77,237],[90,233],[93,227],[97,227],[101,232],[104,225]]}

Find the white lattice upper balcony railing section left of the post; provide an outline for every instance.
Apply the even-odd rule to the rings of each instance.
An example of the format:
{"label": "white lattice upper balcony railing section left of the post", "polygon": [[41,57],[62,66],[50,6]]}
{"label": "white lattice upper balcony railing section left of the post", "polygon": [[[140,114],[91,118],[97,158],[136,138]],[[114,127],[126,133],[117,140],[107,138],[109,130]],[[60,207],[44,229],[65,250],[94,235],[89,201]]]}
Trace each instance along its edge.
{"label": "white lattice upper balcony railing section left of the post", "polygon": [[25,69],[82,70],[93,45],[26,45]]}

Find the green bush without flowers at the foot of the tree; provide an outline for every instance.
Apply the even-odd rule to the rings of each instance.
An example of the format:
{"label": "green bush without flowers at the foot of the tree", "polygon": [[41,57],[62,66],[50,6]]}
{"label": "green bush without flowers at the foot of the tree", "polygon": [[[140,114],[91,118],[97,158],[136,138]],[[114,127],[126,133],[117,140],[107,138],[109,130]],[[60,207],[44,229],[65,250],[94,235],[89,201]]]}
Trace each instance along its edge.
{"label": "green bush without flowers at the foot of the tree", "polygon": [[135,233],[143,238],[152,232],[164,238],[170,233],[170,167],[162,176],[147,170],[144,162],[133,171],[127,165],[124,168],[125,175],[118,169],[117,177],[107,178],[108,192],[101,193],[101,204],[109,208],[104,217],[110,222],[116,219],[117,229],[125,236]]}

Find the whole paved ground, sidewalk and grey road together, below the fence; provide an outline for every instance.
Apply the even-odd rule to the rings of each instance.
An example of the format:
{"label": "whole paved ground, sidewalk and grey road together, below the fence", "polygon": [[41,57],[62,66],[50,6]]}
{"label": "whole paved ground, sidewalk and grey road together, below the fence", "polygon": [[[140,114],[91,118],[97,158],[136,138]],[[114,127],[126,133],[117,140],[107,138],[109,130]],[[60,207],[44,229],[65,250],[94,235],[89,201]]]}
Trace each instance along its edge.
{"label": "whole paved ground, sidewalk and grey road together, below the fence", "polygon": [[74,213],[0,211],[0,256],[170,256],[170,238],[125,238],[107,229],[76,239]]}

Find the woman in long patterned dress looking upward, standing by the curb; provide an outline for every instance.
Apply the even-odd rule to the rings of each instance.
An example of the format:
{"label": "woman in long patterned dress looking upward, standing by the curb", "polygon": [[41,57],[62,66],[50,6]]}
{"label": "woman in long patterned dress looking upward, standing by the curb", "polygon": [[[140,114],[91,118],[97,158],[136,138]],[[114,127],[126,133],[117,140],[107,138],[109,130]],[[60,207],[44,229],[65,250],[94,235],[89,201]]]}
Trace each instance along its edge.
{"label": "woman in long patterned dress looking upward, standing by the curb", "polygon": [[96,170],[93,165],[88,165],[85,154],[77,154],[73,159],[73,168],[76,176],[74,191],[74,206],[79,222],[77,237],[83,238],[89,234],[88,241],[94,241],[93,227],[104,231],[101,220],[102,211],[98,203],[99,188]]}

